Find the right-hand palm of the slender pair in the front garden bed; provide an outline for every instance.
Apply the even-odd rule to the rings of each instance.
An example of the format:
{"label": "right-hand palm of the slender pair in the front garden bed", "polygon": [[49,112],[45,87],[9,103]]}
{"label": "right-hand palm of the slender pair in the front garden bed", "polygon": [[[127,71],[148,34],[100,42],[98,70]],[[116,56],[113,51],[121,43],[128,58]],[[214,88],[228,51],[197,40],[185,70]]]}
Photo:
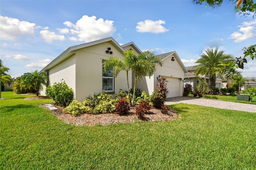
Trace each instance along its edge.
{"label": "right-hand palm of the slender pair in the front garden bed", "polygon": [[134,57],[134,60],[131,62],[130,67],[134,73],[132,105],[134,105],[136,83],[146,75],[151,77],[156,70],[156,64],[159,64],[162,67],[163,61],[150,51],[140,53],[138,56]]}

